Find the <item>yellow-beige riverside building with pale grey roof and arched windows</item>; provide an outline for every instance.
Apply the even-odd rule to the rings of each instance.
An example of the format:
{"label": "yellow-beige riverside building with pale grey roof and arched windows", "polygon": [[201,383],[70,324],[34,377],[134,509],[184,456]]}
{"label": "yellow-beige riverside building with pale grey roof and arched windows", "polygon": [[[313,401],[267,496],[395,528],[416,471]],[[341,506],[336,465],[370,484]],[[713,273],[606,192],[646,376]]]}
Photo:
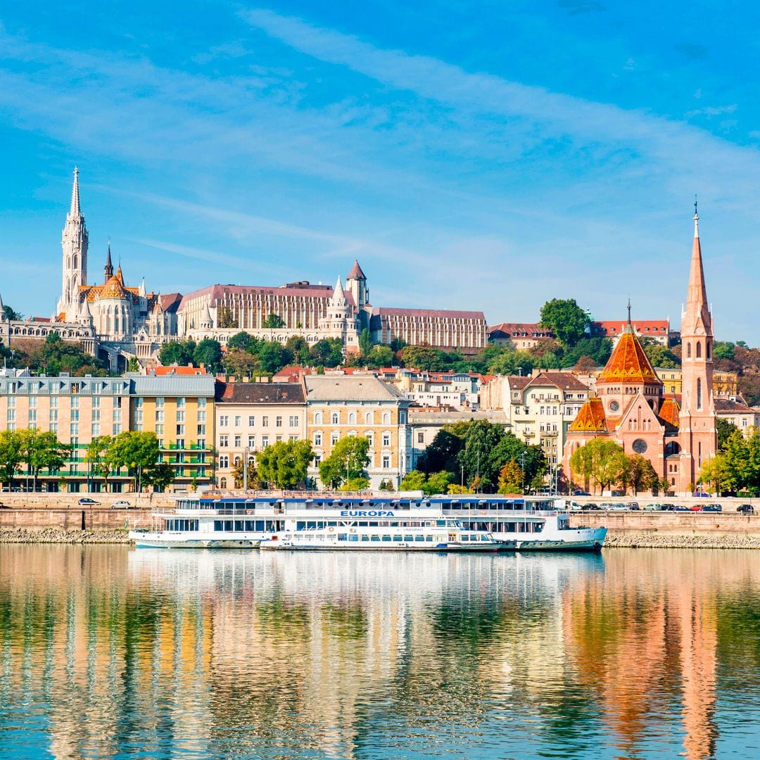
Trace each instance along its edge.
{"label": "yellow-beige riverside building with pale grey roof and arched windows", "polygon": [[307,375],[307,433],[315,451],[310,477],[318,478],[320,461],[347,435],[369,439],[369,486],[384,480],[394,488],[408,470],[412,439],[411,402],[395,388],[368,375]]}

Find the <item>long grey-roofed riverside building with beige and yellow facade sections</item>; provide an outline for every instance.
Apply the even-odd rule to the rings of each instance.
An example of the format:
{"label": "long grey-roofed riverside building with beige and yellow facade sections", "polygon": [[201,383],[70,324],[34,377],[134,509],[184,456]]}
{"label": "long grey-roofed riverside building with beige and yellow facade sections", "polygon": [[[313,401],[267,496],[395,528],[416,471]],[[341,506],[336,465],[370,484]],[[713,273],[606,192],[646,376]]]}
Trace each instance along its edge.
{"label": "long grey-roofed riverside building with beige and yellow facade sections", "polygon": [[[173,464],[173,489],[211,482],[214,378],[43,378],[11,372],[0,376],[0,430],[37,428],[71,445],[70,461],[58,472],[43,470],[38,486],[50,491],[100,492],[105,483],[87,467],[87,446],[98,435],[126,430],[155,432],[160,461]],[[109,477],[112,491],[131,489],[125,473]]]}

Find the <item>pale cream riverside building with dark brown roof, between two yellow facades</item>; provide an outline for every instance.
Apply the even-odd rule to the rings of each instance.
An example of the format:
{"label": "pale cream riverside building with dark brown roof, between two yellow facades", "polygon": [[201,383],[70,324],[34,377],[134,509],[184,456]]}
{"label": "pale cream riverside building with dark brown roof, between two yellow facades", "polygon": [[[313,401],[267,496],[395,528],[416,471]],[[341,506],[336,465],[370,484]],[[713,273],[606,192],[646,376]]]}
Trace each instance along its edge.
{"label": "pale cream riverside building with dark brown roof, between two yellow facades", "polygon": [[301,383],[217,382],[217,485],[235,488],[233,470],[277,441],[306,438],[306,398]]}

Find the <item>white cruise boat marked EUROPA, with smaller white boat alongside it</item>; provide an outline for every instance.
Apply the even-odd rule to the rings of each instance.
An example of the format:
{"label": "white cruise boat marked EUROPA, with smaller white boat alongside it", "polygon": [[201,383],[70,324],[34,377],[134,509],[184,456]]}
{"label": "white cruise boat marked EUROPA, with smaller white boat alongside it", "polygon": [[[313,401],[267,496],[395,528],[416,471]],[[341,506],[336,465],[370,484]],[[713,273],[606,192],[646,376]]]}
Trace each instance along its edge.
{"label": "white cruise boat marked EUROPA, with smaller white boat alongside it", "polygon": [[154,512],[138,547],[385,551],[599,550],[606,528],[575,527],[530,497],[207,493]]}

